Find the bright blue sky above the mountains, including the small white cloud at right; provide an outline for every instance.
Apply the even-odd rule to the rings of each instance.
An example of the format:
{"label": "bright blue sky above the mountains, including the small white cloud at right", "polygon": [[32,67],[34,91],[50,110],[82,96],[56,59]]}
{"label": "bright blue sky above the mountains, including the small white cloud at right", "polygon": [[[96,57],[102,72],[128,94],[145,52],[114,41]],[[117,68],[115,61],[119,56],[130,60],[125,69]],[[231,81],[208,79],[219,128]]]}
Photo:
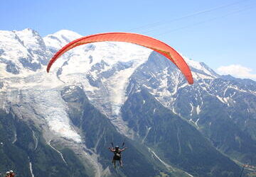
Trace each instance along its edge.
{"label": "bright blue sky above the mountains, including the small white cloud at right", "polygon": [[252,79],[255,21],[255,0],[0,1],[0,30],[142,33],[219,72]]}

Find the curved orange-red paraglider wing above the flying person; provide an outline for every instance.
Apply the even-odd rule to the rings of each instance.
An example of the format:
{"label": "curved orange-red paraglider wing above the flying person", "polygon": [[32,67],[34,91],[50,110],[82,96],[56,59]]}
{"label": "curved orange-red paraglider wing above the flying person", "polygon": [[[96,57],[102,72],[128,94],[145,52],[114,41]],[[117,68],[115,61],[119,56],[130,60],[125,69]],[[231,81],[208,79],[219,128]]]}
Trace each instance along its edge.
{"label": "curved orange-red paraglider wing above the flying person", "polygon": [[174,50],[169,45],[166,45],[166,43],[161,42],[160,40],[156,40],[149,36],[139,35],[135,33],[100,33],[96,35],[88,35],[88,36],[79,38],[77,40],[73,40],[72,42],[68,43],[68,45],[65,45],[62,49],[56,52],[53,58],[50,59],[50,62],[48,63],[48,66],[47,66],[47,72],[50,71],[50,67],[53,65],[56,59],[58,59],[58,57],[63,55],[68,50],[73,49],[74,47],[77,47],[79,45],[85,45],[91,42],[104,42],[104,41],[130,42],[137,45],[142,45],[151,50],[159,52],[161,55],[164,55],[166,58],[170,59],[171,62],[176,64],[178,69],[180,69],[181,72],[186,77],[188,83],[193,84],[193,77],[191,74],[191,70],[189,69],[188,65],[184,61],[183,57],[181,57],[181,55],[179,55],[178,52],[176,52],[176,50]]}

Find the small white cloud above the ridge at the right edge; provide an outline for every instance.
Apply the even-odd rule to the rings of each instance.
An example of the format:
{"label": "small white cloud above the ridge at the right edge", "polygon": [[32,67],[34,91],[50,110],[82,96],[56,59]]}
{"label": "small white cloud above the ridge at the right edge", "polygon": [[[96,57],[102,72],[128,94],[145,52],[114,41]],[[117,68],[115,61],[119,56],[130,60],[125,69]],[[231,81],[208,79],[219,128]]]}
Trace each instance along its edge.
{"label": "small white cloud above the ridge at the right edge", "polygon": [[256,79],[256,74],[253,74],[252,69],[243,67],[240,64],[231,64],[229,66],[218,67],[217,72],[219,74],[230,74],[235,77]]}

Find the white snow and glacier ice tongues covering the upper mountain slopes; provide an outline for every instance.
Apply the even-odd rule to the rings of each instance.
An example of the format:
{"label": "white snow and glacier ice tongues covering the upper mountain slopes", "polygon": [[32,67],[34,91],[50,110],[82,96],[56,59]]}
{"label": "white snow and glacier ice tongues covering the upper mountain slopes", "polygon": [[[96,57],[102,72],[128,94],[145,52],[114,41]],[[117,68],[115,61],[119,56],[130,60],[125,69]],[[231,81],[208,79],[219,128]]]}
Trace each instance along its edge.
{"label": "white snow and glacier ice tongues covering the upper mountain slopes", "polygon": [[[137,77],[138,91],[139,87],[148,89],[162,105],[181,115],[177,113],[176,100],[179,91],[188,88],[186,80],[174,64],[146,47],[126,42],[82,45],[65,53],[47,73],[46,64],[50,57],[68,42],[81,37],[70,30],[60,30],[44,38],[29,28],[20,31],[1,30],[1,108],[8,111],[16,107],[14,109],[19,115],[27,115],[40,124],[46,122],[46,129],[53,132],[54,136],[80,143],[83,139],[70,122],[67,105],[60,96],[64,86],[77,85],[84,89],[90,102],[126,135],[129,128],[127,122],[122,120],[120,109],[129,95],[127,86],[136,74],[149,74],[148,78]],[[210,83],[220,76],[206,64],[183,57],[195,79],[196,84],[192,87],[200,86],[209,95],[215,95],[215,91],[210,89]],[[160,65],[149,65],[155,62],[152,58],[159,59]],[[230,84],[226,86],[227,89],[248,91]],[[250,92],[256,93],[254,90]],[[232,98],[220,95],[215,97],[228,104]],[[200,93],[196,99],[202,99]],[[26,103],[26,106],[17,108],[16,105],[21,103]],[[201,113],[203,102],[189,104],[191,116]],[[193,121],[197,126],[199,120]]]}

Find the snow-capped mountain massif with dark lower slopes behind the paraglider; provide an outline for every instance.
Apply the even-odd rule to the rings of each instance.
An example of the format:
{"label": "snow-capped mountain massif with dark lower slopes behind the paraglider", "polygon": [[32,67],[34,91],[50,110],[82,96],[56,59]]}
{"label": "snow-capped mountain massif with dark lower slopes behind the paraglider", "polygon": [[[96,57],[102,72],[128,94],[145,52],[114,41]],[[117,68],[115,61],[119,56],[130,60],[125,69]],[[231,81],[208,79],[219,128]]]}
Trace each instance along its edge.
{"label": "snow-capped mountain massif with dark lower slopes behind the paraglider", "polygon": [[[147,170],[152,176],[233,176],[239,167],[223,154],[236,163],[256,163],[255,81],[220,76],[185,57],[195,80],[188,85],[168,59],[125,42],[76,47],[48,74],[50,57],[80,37],[70,30],[44,38],[31,29],[0,31],[0,108],[28,125],[35,151],[38,139],[44,139],[42,148],[50,147],[63,166],[73,166],[65,159],[76,154],[79,160],[73,161],[82,161],[87,176],[117,173],[104,161],[107,152],[99,145],[108,146],[116,137],[129,139],[134,154],[142,156],[141,168],[151,166]],[[22,147],[18,127],[11,131],[11,144]],[[169,138],[176,144],[169,144]],[[165,142],[178,156],[165,152]],[[204,166],[199,159],[211,159],[209,154],[215,161]],[[28,158],[33,169],[38,161],[33,153]],[[130,176],[133,167],[118,173]],[[40,176],[41,169],[34,168],[30,175],[34,171]]]}

